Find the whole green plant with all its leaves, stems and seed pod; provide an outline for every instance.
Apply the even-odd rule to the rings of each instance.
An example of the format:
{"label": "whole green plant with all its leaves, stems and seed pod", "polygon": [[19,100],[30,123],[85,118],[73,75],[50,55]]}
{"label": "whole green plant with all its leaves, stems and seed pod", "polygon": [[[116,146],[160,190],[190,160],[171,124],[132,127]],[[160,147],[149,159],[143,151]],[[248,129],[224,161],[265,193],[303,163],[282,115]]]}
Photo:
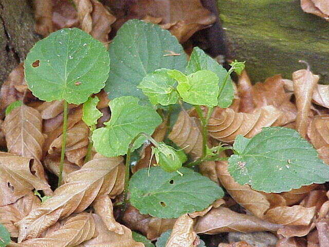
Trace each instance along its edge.
{"label": "whole green plant with all its leaves, stems and seed pod", "polygon": [[[244,68],[243,62],[234,61],[227,71],[197,47],[186,61],[184,49],[169,31],[130,20],[117,32],[108,52],[77,28],[50,34],[29,52],[25,76],[36,97],[64,100],[65,128],[67,103],[84,103],[82,119],[90,128],[90,143],[97,152],[108,157],[127,154],[129,160],[132,150],[151,140],[160,167],[140,169],[132,176],[130,201],[141,214],[175,218],[203,210],[223,197],[224,191],[208,178],[182,167],[187,158],[181,150],[150,137],[162,122],[157,108],[166,109],[179,101],[193,105],[202,121],[204,137],[203,157],[196,163],[207,158],[218,160],[218,153],[226,148],[206,146],[207,120],[213,107],[230,106],[230,74],[240,74]],[[111,99],[111,119],[104,123],[105,127],[96,129],[101,116],[96,108],[99,99],[90,95],[103,87]],[[14,103],[8,112],[20,104]],[[206,118],[200,105],[208,107]],[[294,130],[265,128],[251,139],[237,136],[232,149],[230,174],[238,183],[249,184],[256,190],[282,192],[329,181],[329,168]],[[126,168],[127,180],[129,166]]]}

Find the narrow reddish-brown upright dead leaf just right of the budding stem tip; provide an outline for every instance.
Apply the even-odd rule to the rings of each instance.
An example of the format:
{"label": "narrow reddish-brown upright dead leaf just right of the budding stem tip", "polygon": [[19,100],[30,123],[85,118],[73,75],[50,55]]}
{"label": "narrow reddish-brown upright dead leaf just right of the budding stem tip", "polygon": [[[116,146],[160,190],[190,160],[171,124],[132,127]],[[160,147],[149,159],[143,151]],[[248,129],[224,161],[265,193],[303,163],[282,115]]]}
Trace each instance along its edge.
{"label": "narrow reddish-brown upright dead leaf just right of the budding stem tip", "polygon": [[247,71],[244,69],[239,80],[237,80],[237,91],[239,92],[240,101],[240,112],[252,113],[254,111],[254,105],[252,101],[252,85],[248,77]]}

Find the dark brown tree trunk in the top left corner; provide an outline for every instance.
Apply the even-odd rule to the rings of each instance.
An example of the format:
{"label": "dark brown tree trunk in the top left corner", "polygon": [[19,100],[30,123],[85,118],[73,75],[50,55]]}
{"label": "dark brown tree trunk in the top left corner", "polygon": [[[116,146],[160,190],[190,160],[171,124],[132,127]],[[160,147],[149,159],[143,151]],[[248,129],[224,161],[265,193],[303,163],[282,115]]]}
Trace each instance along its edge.
{"label": "dark brown tree trunk in the top left corner", "polygon": [[[43,0],[40,0],[43,1]],[[28,0],[0,0],[0,83],[40,38]]]}

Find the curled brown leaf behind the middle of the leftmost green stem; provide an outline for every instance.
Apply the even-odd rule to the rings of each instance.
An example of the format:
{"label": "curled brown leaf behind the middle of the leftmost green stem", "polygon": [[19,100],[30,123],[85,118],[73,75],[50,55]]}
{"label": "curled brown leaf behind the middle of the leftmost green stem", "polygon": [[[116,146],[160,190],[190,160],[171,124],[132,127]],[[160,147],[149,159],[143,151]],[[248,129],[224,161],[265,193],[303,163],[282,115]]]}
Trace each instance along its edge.
{"label": "curled brown leaf behind the middle of the leftmost green stem", "polygon": [[[75,163],[78,166],[83,165],[83,157],[87,153],[89,143],[89,128],[81,120],[66,132],[65,156],[69,162]],[[62,148],[62,138],[60,135],[50,144],[48,153],[60,153]]]}

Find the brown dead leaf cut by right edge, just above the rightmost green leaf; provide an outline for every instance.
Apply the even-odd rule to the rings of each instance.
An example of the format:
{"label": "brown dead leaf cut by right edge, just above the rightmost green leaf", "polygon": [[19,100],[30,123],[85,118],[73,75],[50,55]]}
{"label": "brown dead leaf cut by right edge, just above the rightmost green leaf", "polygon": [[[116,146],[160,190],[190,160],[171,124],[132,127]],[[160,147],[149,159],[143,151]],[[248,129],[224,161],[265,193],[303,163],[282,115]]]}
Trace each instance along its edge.
{"label": "brown dead leaf cut by right edge, just above the rightmost green leaf", "polygon": [[307,129],[307,136],[315,149],[329,144],[329,115],[314,116]]}

